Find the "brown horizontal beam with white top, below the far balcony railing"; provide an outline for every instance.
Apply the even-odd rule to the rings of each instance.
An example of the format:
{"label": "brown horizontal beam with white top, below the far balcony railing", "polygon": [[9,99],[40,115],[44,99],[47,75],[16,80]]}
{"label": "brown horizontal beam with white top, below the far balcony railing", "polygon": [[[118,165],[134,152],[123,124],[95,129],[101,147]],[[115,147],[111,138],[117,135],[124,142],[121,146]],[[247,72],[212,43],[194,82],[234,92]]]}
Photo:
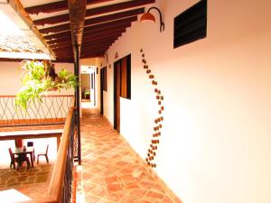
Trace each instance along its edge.
{"label": "brown horizontal beam with white top, below the far balcony railing", "polygon": [[59,149],[62,133],[63,129],[0,132],[0,141],[56,137]]}

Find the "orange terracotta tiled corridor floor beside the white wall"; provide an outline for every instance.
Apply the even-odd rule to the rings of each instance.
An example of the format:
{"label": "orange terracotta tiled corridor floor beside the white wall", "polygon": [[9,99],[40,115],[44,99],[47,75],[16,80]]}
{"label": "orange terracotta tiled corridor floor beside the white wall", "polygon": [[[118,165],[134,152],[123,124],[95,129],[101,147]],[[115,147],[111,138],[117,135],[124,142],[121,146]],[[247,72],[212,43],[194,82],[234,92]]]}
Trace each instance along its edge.
{"label": "orange terracotta tiled corridor floor beside the white wall", "polygon": [[152,176],[98,110],[83,109],[81,143],[77,202],[83,202],[80,194],[86,203],[181,202],[173,200],[174,195],[165,191],[164,184]]}

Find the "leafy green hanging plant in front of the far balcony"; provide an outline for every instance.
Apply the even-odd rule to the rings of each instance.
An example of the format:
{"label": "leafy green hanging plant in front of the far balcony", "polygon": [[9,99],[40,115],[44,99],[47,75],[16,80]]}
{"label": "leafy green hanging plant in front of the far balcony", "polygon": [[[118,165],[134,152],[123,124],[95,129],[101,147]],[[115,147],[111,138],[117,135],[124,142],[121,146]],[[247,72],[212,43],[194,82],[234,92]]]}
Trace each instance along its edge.
{"label": "leafy green hanging plant in front of the far balcony", "polygon": [[78,77],[67,69],[56,74],[54,64],[49,60],[23,60],[23,88],[15,97],[15,106],[27,109],[31,100],[42,102],[42,95],[51,90],[69,89],[79,86]]}

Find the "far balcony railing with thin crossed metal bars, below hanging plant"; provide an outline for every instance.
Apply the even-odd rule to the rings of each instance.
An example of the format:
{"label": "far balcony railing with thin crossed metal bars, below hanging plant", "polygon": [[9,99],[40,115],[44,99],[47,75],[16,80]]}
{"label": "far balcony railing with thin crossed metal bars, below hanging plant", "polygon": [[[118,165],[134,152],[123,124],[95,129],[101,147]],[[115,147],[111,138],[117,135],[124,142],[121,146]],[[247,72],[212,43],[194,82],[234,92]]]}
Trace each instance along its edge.
{"label": "far balcony railing with thin crossed metal bars, below hanging plant", "polygon": [[15,96],[0,96],[0,127],[63,125],[72,95],[44,96],[42,102],[30,100],[26,111],[15,106]]}

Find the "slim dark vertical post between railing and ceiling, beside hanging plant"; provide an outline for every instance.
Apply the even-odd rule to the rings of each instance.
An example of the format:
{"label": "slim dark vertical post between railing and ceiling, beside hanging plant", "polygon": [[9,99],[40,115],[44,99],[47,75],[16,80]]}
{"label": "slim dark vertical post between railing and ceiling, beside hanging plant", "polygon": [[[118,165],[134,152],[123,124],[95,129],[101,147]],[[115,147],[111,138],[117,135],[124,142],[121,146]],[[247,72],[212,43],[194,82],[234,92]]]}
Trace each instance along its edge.
{"label": "slim dark vertical post between railing and ceiling, beside hanging plant", "polygon": [[[79,45],[75,45],[75,60],[74,60],[74,74],[79,78]],[[77,121],[77,155],[79,165],[81,164],[81,136],[80,136],[80,96],[79,96],[79,87],[75,91],[76,98],[76,121]]]}

